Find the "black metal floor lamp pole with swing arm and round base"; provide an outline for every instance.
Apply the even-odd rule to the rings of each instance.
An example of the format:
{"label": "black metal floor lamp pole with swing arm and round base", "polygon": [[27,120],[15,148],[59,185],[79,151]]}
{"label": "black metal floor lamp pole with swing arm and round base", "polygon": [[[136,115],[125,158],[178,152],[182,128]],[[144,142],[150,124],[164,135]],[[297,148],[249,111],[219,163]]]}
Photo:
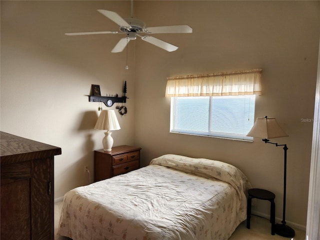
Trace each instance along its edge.
{"label": "black metal floor lamp pole with swing arm and round base", "polygon": [[286,225],[285,223],[285,198],[286,198],[286,151],[287,151],[287,146],[286,144],[278,144],[278,143],[273,143],[269,142],[268,139],[262,139],[265,143],[271,143],[275,144],[275,146],[283,146],[284,150],[284,167],[283,167],[283,214],[282,214],[282,221],[281,223],[276,223],[274,226],[274,232],[280,236],[285,236],[285,237],[293,237],[294,236],[294,230]]}

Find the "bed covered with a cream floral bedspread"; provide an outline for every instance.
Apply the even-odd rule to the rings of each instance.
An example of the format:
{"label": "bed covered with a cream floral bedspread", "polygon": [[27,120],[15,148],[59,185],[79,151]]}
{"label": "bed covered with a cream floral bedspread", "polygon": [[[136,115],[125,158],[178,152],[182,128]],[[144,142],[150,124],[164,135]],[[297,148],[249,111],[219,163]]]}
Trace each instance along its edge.
{"label": "bed covered with a cream floral bedspread", "polygon": [[228,239],[246,219],[246,176],[216,160],[166,154],[65,193],[58,235],[80,239]]}

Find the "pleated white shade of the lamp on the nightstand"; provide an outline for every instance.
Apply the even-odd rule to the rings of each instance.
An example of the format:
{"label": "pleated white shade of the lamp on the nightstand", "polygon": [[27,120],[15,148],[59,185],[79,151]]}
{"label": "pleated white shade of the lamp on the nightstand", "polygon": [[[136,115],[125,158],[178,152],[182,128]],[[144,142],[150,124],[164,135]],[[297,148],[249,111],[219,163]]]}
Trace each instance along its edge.
{"label": "pleated white shade of the lamp on the nightstand", "polygon": [[99,130],[120,129],[120,125],[116,118],[114,110],[101,110],[98,120],[95,123],[94,129],[99,129]]}

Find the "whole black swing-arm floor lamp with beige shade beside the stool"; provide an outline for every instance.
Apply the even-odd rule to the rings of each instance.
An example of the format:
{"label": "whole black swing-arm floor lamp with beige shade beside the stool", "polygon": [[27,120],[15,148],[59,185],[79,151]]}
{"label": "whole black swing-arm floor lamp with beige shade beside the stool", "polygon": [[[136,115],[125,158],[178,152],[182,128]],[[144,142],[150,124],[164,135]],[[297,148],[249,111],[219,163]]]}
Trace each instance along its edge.
{"label": "whole black swing-arm floor lamp with beige shade beside the stool", "polygon": [[258,117],[256,118],[253,127],[247,134],[247,136],[253,136],[262,138],[262,141],[265,143],[271,143],[275,146],[283,146],[284,150],[284,177],[283,177],[283,215],[282,215],[282,223],[277,223],[274,226],[274,232],[280,236],[285,237],[293,237],[294,230],[285,224],[285,191],[286,191],[286,144],[278,144],[270,142],[268,138],[276,138],[282,136],[288,136],[278,125],[275,118]]}

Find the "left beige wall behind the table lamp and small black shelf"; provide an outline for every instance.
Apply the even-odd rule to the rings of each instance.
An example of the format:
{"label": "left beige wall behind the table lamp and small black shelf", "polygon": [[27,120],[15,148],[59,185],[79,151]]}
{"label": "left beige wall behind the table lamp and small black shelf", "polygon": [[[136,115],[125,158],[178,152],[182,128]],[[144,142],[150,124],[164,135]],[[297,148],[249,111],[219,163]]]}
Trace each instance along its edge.
{"label": "left beige wall behind the table lamp and small black shelf", "polygon": [[125,52],[110,53],[119,36],[64,35],[117,30],[96,9],[126,15],[129,7],[123,1],[1,1],[1,131],[61,147],[55,198],[89,183],[84,165],[93,180],[93,150],[102,148],[104,134],[93,129],[98,103],[86,96],[91,84],[99,84],[103,95],[122,95],[127,81],[128,114],[116,114],[121,129],[112,136],[114,145],[133,144],[133,44],[125,70]]}

